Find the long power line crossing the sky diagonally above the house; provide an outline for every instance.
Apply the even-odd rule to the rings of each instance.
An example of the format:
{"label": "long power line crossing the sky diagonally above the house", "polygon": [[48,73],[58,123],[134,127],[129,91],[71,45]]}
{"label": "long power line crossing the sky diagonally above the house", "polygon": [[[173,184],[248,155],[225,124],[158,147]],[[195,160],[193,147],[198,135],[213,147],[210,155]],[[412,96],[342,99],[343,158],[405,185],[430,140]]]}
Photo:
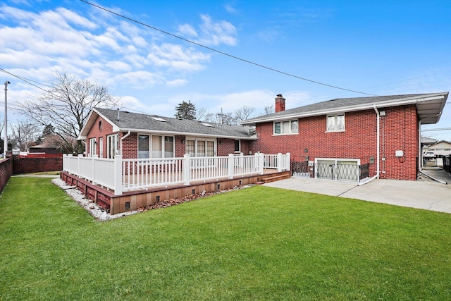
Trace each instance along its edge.
{"label": "long power line crossing the sky diagonally above the house", "polygon": [[103,11],[108,12],[108,13],[112,13],[113,15],[116,15],[116,16],[118,16],[118,17],[121,17],[121,18],[124,18],[124,19],[126,19],[126,20],[129,20],[129,21],[131,21],[131,22],[133,22],[133,23],[137,23],[137,24],[140,24],[140,25],[142,25],[142,26],[149,27],[149,28],[151,28],[152,30],[156,30],[156,31],[162,32],[162,33],[165,34],[165,35],[170,35],[171,37],[175,37],[175,38],[177,38],[177,39],[181,39],[181,40],[183,40],[183,41],[185,41],[185,42],[188,42],[188,43],[197,45],[197,46],[199,46],[199,47],[203,47],[203,48],[205,48],[205,49],[209,49],[210,51],[214,51],[214,52],[216,52],[216,53],[218,53],[218,54],[222,54],[222,55],[228,56],[228,57],[230,57],[230,58],[232,58],[232,59],[237,59],[237,60],[239,60],[239,61],[243,61],[243,62],[245,62],[245,63],[249,63],[249,64],[252,64],[252,65],[254,65],[254,66],[258,66],[258,67],[260,67],[260,68],[265,68],[265,69],[267,69],[267,70],[271,70],[271,71],[274,71],[274,72],[276,72],[276,73],[280,73],[280,74],[283,74],[283,75],[288,75],[288,76],[291,76],[292,78],[297,78],[297,79],[299,79],[299,80],[305,80],[305,81],[307,81],[307,82],[313,82],[314,84],[317,84],[317,85],[323,85],[323,86],[326,86],[326,87],[332,87],[332,88],[334,88],[334,89],[345,90],[345,91],[354,92],[354,93],[359,93],[359,94],[366,94],[366,95],[371,95],[371,96],[377,96],[376,94],[370,94],[370,93],[365,93],[365,92],[359,92],[359,91],[356,91],[356,90],[350,90],[350,89],[346,89],[346,88],[343,88],[343,87],[338,87],[338,86],[334,86],[334,85],[328,85],[328,84],[326,84],[326,83],[324,83],[324,82],[318,82],[318,81],[316,81],[316,80],[309,80],[308,78],[302,78],[302,77],[300,77],[300,76],[298,76],[298,75],[294,75],[294,74],[291,74],[291,73],[287,73],[287,72],[284,72],[284,71],[281,71],[281,70],[278,70],[278,69],[274,69],[274,68],[271,68],[271,67],[268,67],[268,66],[264,66],[264,65],[261,65],[261,64],[259,64],[259,63],[255,63],[255,62],[253,62],[253,61],[249,61],[249,60],[247,60],[247,59],[242,59],[242,58],[240,58],[240,57],[238,57],[238,56],[233,56],[232,54],[228,54],[228,53],[226,53],[226,52],[219,51],[218,49],[214,49],[214,48],[205,46],[204,44],[199,44],[199,43],[197,43],[197,42],[191,41],[190,39],[185,39],[184,37],[180,37],[180,36],[178,36],[178,35],[174,35],[174,34],[171,33],[171,32],[166,32],[166,31],[161,30],[161,29],[159,29],[159,28],[157,28],[157,27],[154,27],[154,26],[152,26],[152,25],[148,25],[148,24],[142,23],[142,22],[140,22],[140,21],[138,21],[138,20],[135,20],[135,19],[132,19],[132,18],[128,18],[128,17],[126,17],[126,16],[121,15],[120,13],[116,13],[116,12],[111,11],[111,10],[109,10],[109,9],[107,9],[107,8],[104,8],[104,7],[102,7],[102,6],[98,6],[97,4],[92,4],[92,3],[90,3],[89,1],[85,1],[85,0],[80,0],[80,1],[85,2],[85,4],[89,4],[89,5],[91,5],[91,6],[94,6],[94,7],[96,7],[96,8],[99,8],[99,9],[101,9],[101,10],[103,10]]}

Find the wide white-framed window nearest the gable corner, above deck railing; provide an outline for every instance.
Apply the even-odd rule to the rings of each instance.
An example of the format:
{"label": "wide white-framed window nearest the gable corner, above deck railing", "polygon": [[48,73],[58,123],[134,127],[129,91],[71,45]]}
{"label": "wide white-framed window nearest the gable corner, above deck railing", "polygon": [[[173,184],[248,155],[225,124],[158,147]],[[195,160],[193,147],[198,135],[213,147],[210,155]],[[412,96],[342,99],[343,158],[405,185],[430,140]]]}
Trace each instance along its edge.
{"label": "wide white-framed window nearest the gable corner, above deck railing", "polygon": [[138,158],[173,158],[174,137],[138,135]]}

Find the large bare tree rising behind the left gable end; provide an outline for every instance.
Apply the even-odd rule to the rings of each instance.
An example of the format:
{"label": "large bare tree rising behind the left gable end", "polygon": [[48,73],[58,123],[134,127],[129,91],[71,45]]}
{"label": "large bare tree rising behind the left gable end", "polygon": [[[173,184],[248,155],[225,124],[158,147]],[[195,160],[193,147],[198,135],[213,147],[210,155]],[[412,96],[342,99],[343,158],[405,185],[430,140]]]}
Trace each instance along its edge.
{"label": "large bare tree rising behind the left gable end", "polygon": [[51,90],[38,95],[34,101],[19,104],[19,111],[43,127],[53,125],[54,133],[64,142],[64,152],[82,152],[82,143],[75,141],[89,111],[96,106],[113,107],[117,103],[105,86],[63,72],[54,75]]}

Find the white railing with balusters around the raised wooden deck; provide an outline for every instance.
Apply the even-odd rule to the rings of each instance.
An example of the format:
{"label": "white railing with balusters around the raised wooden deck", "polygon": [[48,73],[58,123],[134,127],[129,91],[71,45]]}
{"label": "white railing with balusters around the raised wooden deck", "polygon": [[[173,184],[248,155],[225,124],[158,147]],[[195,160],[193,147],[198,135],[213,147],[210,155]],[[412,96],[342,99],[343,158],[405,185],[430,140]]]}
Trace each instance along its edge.
{"label": "white railing with balusters around the raised wooden deck", "polygon": [[205,157],[185,154],[183,158],[166,159],[122,159],[120,155],[114,159],[103,159],[63,155],[63,171],[114,190],[115,195],[165,185],[190,185],[198,180],[252,176],[263,174],[264,168],[289,171],[290,153]]}

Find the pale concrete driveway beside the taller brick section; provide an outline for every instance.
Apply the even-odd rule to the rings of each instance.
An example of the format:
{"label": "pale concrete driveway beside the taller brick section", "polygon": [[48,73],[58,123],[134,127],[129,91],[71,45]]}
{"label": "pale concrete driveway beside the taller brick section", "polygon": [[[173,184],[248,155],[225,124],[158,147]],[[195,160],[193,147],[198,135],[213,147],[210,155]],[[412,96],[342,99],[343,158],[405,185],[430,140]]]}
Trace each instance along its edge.
{"label": "pale concrete driveway beside the taller brick section", "polygon": [[451,185],[438,183],[426,176],[416,181],[376,179],[362,186],[335,180],[292,177],[264,186],[451,213]]}

